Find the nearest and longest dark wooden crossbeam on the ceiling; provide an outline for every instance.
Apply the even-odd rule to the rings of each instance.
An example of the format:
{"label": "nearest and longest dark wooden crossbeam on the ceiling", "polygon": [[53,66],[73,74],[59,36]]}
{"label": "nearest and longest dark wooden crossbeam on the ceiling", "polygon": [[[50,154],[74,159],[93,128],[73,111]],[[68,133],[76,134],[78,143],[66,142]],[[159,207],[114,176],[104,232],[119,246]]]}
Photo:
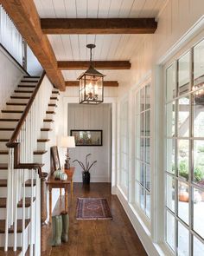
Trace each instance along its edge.
{"label": "nearest and longest dark wooden crossbeam on the ceiling", "polygon": [[155,18],[42,18],[45,34],[153,34]]}

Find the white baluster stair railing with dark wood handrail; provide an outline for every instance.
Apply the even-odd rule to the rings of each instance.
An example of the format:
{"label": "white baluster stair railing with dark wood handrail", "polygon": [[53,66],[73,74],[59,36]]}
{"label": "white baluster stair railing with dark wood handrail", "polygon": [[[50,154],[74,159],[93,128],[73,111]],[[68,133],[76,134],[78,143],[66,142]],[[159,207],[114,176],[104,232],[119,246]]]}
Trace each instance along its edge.
{"label": "white baluster stair railing with dark wood handrail", "polygon": [[[8,251],[8,247],[12,244],[13,251],[19,246],[22,248],[22,255],[25,255],[28,247],[30,256],[41,255],[42,173],[41,164],[34,163],[34,151],[37,149],[37,138],[41,134],[52,89],[51,82],[43,73],[7,143],[10,149],[4,251]],[[26,204],[29,203],[28,212]],[[22,204],[22,207],[19,208],[18,204]],[[10,239],[11,227],[14,234]],[[19,228],[22,229],[20,234]]]}

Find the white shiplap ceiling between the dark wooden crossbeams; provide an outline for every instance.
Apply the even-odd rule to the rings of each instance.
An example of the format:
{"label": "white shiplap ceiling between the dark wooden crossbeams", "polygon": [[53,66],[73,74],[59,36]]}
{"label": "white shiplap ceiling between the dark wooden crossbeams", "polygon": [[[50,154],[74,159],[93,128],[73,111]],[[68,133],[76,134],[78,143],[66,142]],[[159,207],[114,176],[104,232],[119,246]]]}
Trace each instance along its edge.
{"label": "white shiplap ceiling between the dark wooden crossbeams", "polygon": [[[166,0],[35,0],[41,18],[156,17]],[[87,43],[95,43],[93,60],[129,60],[137,52],[143,35],[48,35],[58,61],[89,60]],[[106,80],[118,77],[105,70]],[[123,70],[118,71],[126,73]],[[66,80],[75,80],[81,71],[63,71]],[[122,74],[121,74],[122,75]],[[74,78],[75,77],[75,78]]]}

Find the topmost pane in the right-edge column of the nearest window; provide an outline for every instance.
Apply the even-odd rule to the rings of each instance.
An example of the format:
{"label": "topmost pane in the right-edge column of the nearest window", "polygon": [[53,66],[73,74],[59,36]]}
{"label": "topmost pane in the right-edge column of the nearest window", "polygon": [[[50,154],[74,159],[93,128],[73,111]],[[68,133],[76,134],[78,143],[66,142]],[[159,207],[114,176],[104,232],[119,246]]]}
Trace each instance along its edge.
{"label": "topmost pane in the right-edge column of the nearest window", "polygon": [[[204,40],[194,47],[194,79],[204,75]],[[195,81],[196,82],[196,81]]]}

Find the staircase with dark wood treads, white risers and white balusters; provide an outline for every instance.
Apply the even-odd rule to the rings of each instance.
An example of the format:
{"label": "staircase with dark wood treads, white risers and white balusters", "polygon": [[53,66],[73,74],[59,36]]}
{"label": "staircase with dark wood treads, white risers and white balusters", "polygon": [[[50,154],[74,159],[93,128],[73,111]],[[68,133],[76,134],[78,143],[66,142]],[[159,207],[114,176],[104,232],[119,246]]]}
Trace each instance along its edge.
{"label": "staircase with dark wood treads, white risers and white balusters", "polygon": [[[39,83],[42,84],[40,86],[43,89],[40,88],[35,95],[34,106],[32,105],[33,107],[27,113],[28,117],[21,124],[22,115],[25,115],[27,104]],[[41,168],[46,172],[49,170],[49,137],[54,124],[54,110],[57,107],[58,95],[59,91],[52,88],[46,76],[41,78],[23,76],[22,81],[10,96],[10,101],[2,110],[0,118],[0,255],[41,255],[41,248],[39,248],[41,247],[41,240],[39,241],[41,180],[39,176],[43,174]],[[44,100],[47,102],[45,103]],[[10,143],[10,148],[7,148],[6,143],[14,137],[16,128],[20,125],[21,132],[16,135],[14,146]],[[28,148],[33,148],[31,153]],[[15,166],[17,161],[18,166]],[[35,164],[30,167],[29,163]]]}

